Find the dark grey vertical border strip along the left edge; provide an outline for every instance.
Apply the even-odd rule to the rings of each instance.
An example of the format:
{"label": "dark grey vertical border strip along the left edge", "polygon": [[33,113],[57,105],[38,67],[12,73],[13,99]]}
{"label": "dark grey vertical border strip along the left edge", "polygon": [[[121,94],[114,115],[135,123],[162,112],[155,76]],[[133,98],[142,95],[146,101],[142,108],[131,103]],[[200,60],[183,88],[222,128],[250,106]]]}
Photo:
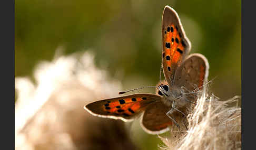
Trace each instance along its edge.
{"label": "dark grey vertical border strip along the left edge", "polygon": [[[15,31],[15,1],[2,1],[1,14],[1,66],[2,66],[2,137],[3,149],[15,149],[15,76],[14,76],[14,31]],[[7,147],[7,148],[5,148]]]}

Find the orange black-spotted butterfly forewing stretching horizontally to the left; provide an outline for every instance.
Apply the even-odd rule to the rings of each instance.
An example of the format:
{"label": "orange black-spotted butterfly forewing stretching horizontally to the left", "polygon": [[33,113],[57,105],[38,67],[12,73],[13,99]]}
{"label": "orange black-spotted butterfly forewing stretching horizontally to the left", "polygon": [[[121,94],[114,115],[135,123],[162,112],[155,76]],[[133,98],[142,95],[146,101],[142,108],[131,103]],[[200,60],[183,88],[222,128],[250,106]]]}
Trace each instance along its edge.
{"label": "orange black-spotted butterfly forewing stretching horizontally to the left", "polygon": [[150,103],[160,100],[155,94],[132,94],[124,97],[96,101],[84,106],[89,113],[123,121],[133,121],[134,117],[145,110]]}

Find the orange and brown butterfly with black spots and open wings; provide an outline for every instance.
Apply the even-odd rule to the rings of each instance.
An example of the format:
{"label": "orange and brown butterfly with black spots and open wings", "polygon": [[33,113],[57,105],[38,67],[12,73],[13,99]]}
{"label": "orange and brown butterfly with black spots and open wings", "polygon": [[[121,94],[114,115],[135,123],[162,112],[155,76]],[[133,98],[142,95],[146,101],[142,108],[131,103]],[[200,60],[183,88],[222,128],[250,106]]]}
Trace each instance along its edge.
{"label": "orange and brown butterfly with black spots and open wings", "polygon": [[196,104],[208,78],[208,60],[200,53],[188,56],[190,49],[178,14],[165,6],[161,66],[165,80],[156,85],[156,94],[137,93],[100,100],[85,105],[84,109],[95,116],[125,122],[142,115],[141,126],[149,134],[161,134],[173,125],[180,126],[175,117],[188,115],[186,110]]}

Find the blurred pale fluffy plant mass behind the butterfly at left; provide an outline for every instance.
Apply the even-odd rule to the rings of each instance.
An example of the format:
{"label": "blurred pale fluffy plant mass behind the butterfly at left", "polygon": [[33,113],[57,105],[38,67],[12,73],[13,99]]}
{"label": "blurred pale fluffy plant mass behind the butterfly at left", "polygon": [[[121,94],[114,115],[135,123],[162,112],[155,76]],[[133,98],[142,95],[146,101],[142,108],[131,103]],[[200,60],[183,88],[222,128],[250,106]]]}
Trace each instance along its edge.
{"label": "blurred pale fluffy plant mass behind the butterfly at left", "polygon": [[34,72],[36,85],[15,78],[15,149],[137,149],[122,121],[83,109],[121,87],[94,67],[91,53],[41,62]]}

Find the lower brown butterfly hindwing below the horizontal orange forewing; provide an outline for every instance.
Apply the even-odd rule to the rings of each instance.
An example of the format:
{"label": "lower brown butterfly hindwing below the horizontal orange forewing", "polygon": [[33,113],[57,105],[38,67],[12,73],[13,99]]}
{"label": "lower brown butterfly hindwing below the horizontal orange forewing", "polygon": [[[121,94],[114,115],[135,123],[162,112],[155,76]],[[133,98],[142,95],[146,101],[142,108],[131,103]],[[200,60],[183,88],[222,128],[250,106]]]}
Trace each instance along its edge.
{"label": "lower brown butterfly hindwing below the horizontal orange forewing", "polygon": [[168,106],[161,101],[147,106],[142,120],[141,126],[143,130],[149,134],[161,134],[169,131],[169,126],[172,125],[172,120],[166,115],[170,110]]}

